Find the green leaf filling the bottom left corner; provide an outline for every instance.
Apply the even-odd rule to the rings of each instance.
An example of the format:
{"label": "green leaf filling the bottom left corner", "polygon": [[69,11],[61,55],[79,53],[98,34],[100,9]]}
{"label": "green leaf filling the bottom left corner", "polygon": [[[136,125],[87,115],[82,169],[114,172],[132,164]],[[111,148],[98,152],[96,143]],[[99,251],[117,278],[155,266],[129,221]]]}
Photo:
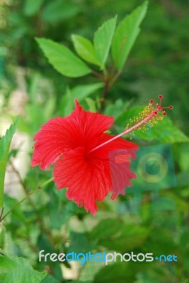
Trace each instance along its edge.
{"label": "green leaf filling the bottom left corner", "polygon": [[25,258],[4,253],[1,249],[0,253],[0,273],[4,277],[4,283],[40,283],[45,278],[46,272],[33,270]]}

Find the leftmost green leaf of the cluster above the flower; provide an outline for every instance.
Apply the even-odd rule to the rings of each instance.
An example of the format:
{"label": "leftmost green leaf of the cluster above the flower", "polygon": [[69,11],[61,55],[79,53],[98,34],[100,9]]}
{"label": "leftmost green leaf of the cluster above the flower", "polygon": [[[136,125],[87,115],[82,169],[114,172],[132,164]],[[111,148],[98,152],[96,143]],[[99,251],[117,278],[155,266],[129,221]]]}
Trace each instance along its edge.
{"label": "leftmost green leaf of the cluster above the flower", "polygon": [[52,66],[64,76],[76,78],[91,72],[91,69],[64,45],[46,38],[36,38]]}

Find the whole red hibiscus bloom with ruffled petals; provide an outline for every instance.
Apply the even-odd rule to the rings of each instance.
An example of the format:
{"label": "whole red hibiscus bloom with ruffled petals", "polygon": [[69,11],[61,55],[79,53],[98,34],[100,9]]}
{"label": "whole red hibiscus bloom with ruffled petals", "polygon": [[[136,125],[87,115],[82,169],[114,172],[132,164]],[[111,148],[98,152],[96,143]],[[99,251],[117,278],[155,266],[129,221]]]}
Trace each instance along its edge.
{"label": "whole red hibiscus bloom with ruffled petals", "polygon": [[[57,189],[67,187],[69,200],[96,214],[96,201],[103,201],[108,192],[112,198],[124,195],[125,186],[132,185],[130,179],[136,175],[130,171],[128,156],[134,158],[137,146],[120,137],[110,141],[113,136],[105,131],[113,124],[113,117],[85,111],[77,100],[75,104],[71,115],[50,119],[35,134],[31,164],[49,169],[55,163]],[[124,149],[130,149],[127,160],[117,162]]]}

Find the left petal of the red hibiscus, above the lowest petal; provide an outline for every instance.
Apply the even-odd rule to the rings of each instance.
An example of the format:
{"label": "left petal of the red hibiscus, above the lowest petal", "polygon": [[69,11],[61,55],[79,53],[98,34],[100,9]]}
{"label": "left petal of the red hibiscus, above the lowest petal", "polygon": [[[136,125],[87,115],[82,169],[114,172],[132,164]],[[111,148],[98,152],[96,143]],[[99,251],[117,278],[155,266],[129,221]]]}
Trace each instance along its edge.
{"label": "left petal of the red hibiscus, above the lowest petal", "polygon": [[70,149],[84,146],[84,131],[70,117],[50,119],[35,134],[35,145],[31,165],[49,168],[57,158]]}

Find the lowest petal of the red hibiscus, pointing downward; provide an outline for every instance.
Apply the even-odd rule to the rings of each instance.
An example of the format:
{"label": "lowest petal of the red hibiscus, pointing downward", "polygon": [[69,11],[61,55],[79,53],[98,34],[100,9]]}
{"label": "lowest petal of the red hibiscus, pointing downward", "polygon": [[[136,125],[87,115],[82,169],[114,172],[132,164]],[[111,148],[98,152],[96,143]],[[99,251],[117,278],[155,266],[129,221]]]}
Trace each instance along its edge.
{"label": "lowest petal of the red hibiscus, pointing downward", "polygon": [[92,214],[97,211],[96,201],[104,200],[111,189],[103,162],[87,159],[84,147],[65,152],[55,163],[53,176],[58,190],[68,187],[67,198]]}

